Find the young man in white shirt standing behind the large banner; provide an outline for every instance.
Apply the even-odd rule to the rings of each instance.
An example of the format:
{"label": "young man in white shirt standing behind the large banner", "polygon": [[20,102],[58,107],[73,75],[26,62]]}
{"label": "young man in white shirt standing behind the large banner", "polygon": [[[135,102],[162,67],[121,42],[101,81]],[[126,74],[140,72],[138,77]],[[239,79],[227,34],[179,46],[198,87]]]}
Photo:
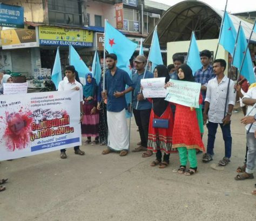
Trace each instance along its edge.
{"label": "young man in white shirt standing behind the large banner", "polygon": [[[66,74],[66,78],[68,79],[68,81],[66,80],[62,80],[59,82],[59,86],[58,86],[58,91],[70,91],[70,90],[77,90],[80,93],[80,122],[83,121],[83,117],[84,117],[84,111],[83,111],[83,87],[82,84],[80,84],[79,82],[76,81],[75,77],[76,77],[76,73],[75,73],[75,67],[73,65],[69,65],[65,67],[65,74]],[[79,146],[74,147],[75,150],[75,154],[78,155],[84,155],[84,151],[79,149]],[[61,149],[60,150],[60,158],[65,159],[66,156],[66,149]]]}

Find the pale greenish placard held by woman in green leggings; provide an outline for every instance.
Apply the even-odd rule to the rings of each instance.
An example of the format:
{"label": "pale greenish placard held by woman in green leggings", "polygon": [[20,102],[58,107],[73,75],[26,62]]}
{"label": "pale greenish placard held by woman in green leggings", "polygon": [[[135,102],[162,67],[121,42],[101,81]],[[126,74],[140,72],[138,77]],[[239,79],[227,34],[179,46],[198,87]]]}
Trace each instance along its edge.
{"label": "pale greenish placard held by woman in green leggings", "polygon": [[187,107],[199,108],[201,84],[190,81],[170,80],[165,100]]}

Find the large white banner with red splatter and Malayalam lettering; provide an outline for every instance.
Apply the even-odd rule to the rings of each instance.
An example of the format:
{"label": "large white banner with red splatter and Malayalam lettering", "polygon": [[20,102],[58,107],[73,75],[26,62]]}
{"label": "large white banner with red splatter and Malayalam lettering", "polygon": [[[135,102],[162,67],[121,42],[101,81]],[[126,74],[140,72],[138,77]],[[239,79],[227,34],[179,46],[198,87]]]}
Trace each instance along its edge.
{"label": "large white banner with red splatter and Malayalam lettering", "polygon": [[0,161],[81,144],[78,91],[0,96]]}

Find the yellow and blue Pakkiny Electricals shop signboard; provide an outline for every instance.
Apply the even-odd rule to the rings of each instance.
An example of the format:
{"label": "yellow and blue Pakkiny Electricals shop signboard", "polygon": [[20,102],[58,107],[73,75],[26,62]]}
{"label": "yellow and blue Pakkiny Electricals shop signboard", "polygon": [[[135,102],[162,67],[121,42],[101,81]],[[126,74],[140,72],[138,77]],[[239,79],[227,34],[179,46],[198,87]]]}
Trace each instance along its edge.
{"label": "yellow and blue Pakkiny Electricals shop signboard", "polygon": [[40,45],[92,47],[93,32],[56,26],[39,26]]}

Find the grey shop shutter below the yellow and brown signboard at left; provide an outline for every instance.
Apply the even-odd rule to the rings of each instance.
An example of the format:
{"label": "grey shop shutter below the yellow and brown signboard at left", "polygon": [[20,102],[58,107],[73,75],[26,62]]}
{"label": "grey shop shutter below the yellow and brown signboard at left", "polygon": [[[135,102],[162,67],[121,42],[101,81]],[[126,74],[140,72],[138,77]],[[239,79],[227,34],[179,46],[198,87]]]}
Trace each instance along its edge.
{"label": "grey shop shutter below the yellow and brown signboard at left", "polygon": [[[11,51],[12,72],[27,73],[31,76],[31,50],[16,49]],[[26,77],[28,77],[27,74]]]}

